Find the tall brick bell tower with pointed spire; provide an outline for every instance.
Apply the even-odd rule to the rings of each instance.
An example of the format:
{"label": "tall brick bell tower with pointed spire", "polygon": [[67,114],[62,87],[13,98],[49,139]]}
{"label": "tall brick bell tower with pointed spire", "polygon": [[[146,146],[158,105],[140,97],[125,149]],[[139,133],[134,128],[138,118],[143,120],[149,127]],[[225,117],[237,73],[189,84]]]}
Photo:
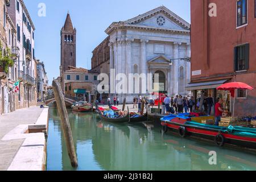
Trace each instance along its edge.
{"label": "tall brick bell tower with pointed spire", "polygon": [[64,26],[60,31],[61,36],[61,60],[62,71],[69,70],[69,66],[76,67],[76,28],[73,28],[69,13]]}

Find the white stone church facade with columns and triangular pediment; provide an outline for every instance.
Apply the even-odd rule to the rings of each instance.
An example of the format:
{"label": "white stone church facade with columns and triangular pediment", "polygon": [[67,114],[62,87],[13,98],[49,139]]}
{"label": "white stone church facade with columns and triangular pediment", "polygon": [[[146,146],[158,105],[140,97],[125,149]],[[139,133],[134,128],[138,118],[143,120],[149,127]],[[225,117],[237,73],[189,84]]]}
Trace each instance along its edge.
{"label": "white stone church facade with columns and triangular pediment", "polygon": [[[109,49],[105,52],[109,53],[108,59],[93,65],[96,57],[101,57],[94,55],[92,69],[101,71],[102,67],[107,68],[109,76],[110,69],[115,69],[115,76],[110,76],[110,80],[115,79],[118,73],[127,76],[129,73],[158,73],[160,91],[169,96],[189,94],[185,86],[190,81],[190,63],[181,59],[191,56],[188,22],[160,6],[135,18],[113,22],[105,32],[109,35]],[[138,94],[151,93],[146,90],[146,93],[119,94],[118,97],[126,97],[127,102],[131,102]],[[115,94],[110,95],[113,97]]]}

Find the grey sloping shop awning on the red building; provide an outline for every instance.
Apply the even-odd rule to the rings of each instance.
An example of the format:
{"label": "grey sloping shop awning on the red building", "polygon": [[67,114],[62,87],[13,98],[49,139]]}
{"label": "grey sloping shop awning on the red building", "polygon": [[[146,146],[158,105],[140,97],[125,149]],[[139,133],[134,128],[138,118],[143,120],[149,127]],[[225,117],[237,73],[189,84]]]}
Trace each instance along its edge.
{"label": "grey sloping shop awning on the red building", "polygon": [[218,80],[218,81],[209,81],[209,82],[197,82],[197,83],[189,83],[188,86],[185,87],[186,90],[201,90],[201,89],[214,89],[218,86],[221,86],[228,80]]}

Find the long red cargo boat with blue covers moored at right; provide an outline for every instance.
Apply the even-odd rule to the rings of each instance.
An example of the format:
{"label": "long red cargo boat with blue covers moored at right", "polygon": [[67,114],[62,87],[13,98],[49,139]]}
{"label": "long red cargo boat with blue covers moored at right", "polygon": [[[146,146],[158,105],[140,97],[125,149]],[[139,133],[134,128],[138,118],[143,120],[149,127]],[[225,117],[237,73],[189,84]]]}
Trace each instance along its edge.
{"label": "long red cargo boat with blue covers moored at right", "polygon": [[207,139],[216,143],[217,146],[228,144],[256,150],[256,129],[202,124],[193,121],[193,117],[186,114],[171,114],[161,118],[161,121],[164,133],[170,129],[179,133],[181,137]]}

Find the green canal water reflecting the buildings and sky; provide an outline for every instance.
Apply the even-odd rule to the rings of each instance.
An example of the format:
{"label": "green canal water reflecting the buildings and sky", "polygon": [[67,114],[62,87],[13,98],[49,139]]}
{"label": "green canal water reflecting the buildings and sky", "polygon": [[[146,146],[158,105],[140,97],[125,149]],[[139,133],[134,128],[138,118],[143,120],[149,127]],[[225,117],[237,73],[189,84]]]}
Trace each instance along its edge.
{"label": "green canal water reflecting the buildings and sky", "polygon": [[[79,162],[76,170],[256,170],[255,154],[162,135],[152,123],[115,124],[94,113],[68,114]],[[216,151],[216,165],[209,164],[210,151]],[[47,170],[74,170],[56,107],[49,109]]]}

